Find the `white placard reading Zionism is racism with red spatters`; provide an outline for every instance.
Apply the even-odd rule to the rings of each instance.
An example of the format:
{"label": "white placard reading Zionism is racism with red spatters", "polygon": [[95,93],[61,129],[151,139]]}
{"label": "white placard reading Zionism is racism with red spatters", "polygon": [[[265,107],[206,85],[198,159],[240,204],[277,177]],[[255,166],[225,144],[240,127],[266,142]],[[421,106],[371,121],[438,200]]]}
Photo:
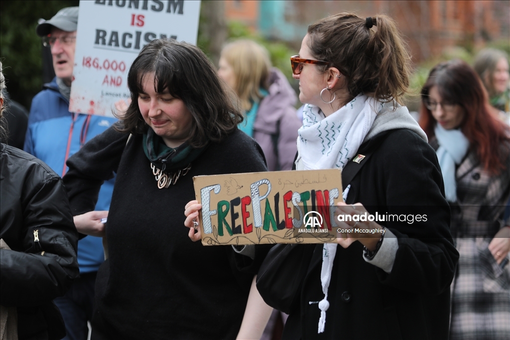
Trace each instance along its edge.
{"label": "white placard reading Zionism is racism with red spatters", "polygon": [[70,112],[113,116],[127,72],[157,38],[196,44],[200,1],[80,1]]}

